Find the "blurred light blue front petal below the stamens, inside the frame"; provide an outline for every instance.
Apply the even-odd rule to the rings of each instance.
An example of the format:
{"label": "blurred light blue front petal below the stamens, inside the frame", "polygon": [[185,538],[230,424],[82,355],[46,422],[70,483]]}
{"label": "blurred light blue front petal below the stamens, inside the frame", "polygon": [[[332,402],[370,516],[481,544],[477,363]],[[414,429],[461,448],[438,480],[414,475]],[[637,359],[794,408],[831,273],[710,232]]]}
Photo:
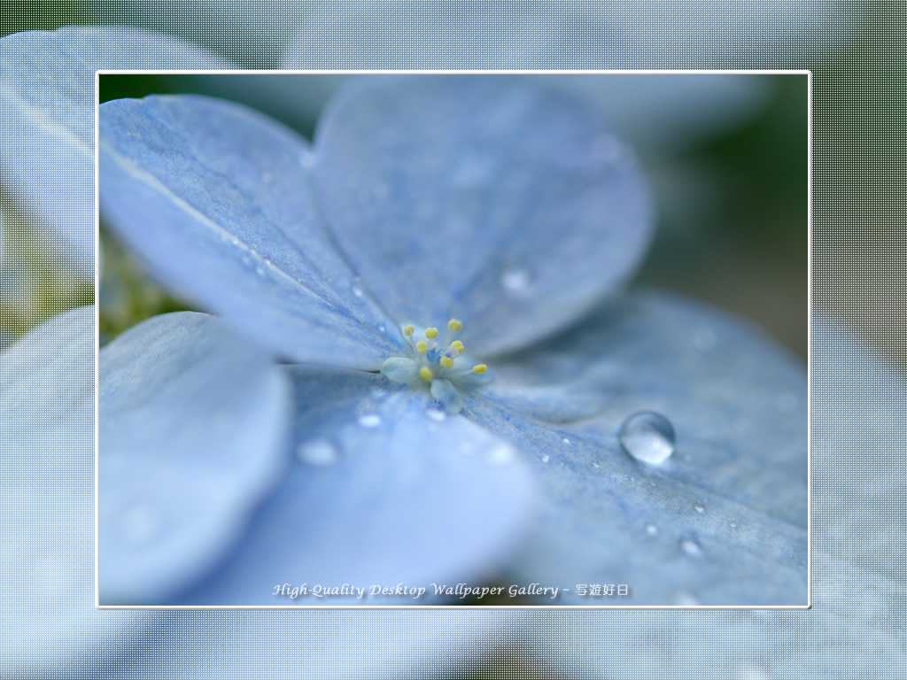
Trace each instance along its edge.
{"label": "blurred light blue front petal below the stamens, inside the frame", "polygon": [[[534,500],[512,448],[381,375],[293,374],[297,460],[233,559],[180,604],[420,605],[434,599],[432,582],[493,577]],[[283,584],[309,593],[275,595]],[[418,599],[311,593],[344,584],[428,590]]]}

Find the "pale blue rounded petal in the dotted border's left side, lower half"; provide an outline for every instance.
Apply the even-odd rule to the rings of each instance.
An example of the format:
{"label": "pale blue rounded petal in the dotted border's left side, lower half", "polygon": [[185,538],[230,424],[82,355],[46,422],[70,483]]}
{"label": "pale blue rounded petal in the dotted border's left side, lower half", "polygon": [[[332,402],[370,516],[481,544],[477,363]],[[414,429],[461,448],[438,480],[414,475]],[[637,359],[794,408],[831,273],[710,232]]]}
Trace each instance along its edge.
{"label": "pale blue rounded petal in the dotted border's left side, lower half", "polygon": [[0,665],[22,677],[126,646],[150,618],[93,608],[93,331],[83,307],[0,354]]}

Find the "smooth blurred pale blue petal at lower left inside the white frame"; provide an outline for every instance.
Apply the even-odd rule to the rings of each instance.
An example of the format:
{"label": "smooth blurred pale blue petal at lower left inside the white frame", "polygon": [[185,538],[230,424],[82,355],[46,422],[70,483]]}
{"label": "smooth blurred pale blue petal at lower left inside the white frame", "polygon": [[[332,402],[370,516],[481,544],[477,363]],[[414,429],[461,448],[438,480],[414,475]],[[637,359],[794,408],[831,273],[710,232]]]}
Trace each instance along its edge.
{"label": "smooth blurred pale blue petal at lower left inside the white frame", "polygon": [[288,464],[289,399],[212,316],[155,316],[102,349],[102,605],[166,604],[236,542]]}

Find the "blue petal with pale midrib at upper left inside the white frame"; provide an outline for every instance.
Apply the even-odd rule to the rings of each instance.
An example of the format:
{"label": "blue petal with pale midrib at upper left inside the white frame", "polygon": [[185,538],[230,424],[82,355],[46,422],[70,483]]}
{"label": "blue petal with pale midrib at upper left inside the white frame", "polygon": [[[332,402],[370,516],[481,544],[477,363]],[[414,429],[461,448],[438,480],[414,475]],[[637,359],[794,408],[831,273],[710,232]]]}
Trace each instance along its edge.
{"label": "blue petal with pale midrib at upper left inside the white frame", "polygon": [[102,214],[164,283],[299,362],[376,370],[400,353],[320,222],[305,140],[203,97],[100,115]]}

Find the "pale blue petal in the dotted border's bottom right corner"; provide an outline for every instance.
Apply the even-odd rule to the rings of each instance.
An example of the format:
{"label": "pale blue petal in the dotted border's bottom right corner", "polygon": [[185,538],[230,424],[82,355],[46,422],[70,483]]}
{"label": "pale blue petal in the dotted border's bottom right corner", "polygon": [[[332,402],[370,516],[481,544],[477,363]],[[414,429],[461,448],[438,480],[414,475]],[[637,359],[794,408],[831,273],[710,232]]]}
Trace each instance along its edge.
{"label": "pale blue petal in the dotted border's bottom right corner", "polygon": [[903,675],[907,389],[891,361],[819,314],[813,361],[813,607],[571,612],[569,627],[539,618],[532,646],[548,668],[645,680],[781,678],[792,668],[801,677]]}

